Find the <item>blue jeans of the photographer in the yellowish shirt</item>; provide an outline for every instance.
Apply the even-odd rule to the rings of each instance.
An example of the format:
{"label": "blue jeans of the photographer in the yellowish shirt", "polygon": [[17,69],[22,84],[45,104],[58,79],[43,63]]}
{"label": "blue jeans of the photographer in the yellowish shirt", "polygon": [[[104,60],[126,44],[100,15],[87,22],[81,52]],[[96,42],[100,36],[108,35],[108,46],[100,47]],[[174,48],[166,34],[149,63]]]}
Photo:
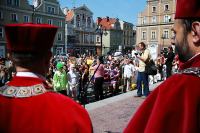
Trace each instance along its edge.
{"label": "blue jeans of the photographer in the yellowish shirt", "polygon": [[[142,94],[142,83],[144,85]],[[145,72],[138,72],[137,77],[137,95],[138,96],[148,96],[149,95],[149,81],[148,75]]]}

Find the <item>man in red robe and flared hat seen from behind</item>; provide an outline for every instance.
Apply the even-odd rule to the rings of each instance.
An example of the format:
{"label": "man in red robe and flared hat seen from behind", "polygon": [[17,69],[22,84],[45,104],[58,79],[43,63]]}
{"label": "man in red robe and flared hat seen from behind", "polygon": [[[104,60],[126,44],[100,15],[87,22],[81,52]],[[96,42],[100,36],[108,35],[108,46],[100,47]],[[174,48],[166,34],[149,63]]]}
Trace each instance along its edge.
{"label": "man in red robe and flared hat seen from behind", "polygon": [[45,82],[57,27],[5,26],[7,49],[16,76],[0,87],[1,133],[91,133],[87,111]]}

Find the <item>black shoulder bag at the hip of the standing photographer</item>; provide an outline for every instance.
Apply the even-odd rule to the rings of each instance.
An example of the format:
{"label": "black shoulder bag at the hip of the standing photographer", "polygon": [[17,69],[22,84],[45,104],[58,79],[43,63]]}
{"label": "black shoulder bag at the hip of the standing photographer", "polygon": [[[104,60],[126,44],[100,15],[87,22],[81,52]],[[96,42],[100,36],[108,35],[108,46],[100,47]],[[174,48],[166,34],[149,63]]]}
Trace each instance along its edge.
{"label": "black shoulder bag at the hip of the standing photographer", "polygon": [[147,59],[145,62],[145,73],[147,75],[156,75],[157,74],[157,67],[155,65],[155,62],[152,59]]}

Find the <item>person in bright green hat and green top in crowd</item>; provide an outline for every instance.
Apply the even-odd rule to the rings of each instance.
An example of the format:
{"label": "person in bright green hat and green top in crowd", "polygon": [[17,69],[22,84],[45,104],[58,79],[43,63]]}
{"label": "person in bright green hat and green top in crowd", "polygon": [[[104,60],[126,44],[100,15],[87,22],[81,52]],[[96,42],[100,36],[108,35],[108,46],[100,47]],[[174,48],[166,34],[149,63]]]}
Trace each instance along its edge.
{"label": "person in bright green hat and green top in crowd", "polygon": [[67,74],[63,69],[64,63],[58,62],[56,64],[56,72],[53,75],[53,88],[55,91],[60,92],[63,95],[67,95]]}

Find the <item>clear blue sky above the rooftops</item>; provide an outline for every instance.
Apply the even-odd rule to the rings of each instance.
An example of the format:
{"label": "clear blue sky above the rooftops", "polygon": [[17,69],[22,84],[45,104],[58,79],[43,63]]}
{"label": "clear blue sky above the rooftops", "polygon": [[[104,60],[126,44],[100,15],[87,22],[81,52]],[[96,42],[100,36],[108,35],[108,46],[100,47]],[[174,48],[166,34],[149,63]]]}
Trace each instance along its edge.
{"label": "clear blue sky above the rooftops", "polygon": [[[30,2],[32,0],[29,0]],[[69,9],[85,4],[92,12],[93,19],[97,17],[119,18],[120,20],[137,24],[137,14],[144,10],[146,0],[58,0],[61,8]]]}

